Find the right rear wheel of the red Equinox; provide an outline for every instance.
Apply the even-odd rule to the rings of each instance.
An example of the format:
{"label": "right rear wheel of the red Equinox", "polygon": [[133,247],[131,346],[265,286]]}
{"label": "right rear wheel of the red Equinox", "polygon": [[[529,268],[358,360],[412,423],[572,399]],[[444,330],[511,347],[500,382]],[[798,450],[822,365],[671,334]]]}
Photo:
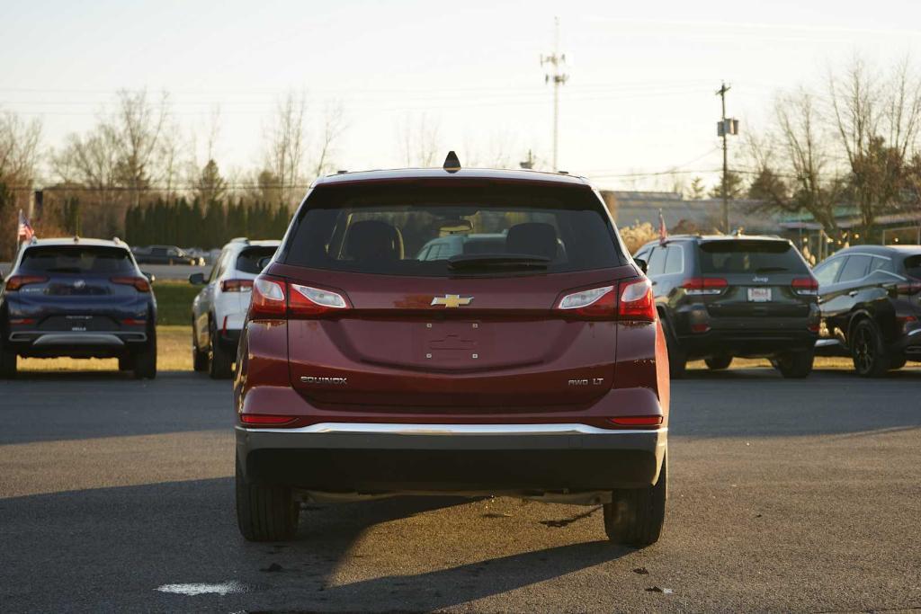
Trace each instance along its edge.
{"label": "right rear wheel of the red Equinox", "polygon": [[668,469],[668,458],[665,458],[655,485],[612,492],[611,503],[604,504],[604,531],[608,539],[616,544],[638,547],[659,540],[665,524]]}

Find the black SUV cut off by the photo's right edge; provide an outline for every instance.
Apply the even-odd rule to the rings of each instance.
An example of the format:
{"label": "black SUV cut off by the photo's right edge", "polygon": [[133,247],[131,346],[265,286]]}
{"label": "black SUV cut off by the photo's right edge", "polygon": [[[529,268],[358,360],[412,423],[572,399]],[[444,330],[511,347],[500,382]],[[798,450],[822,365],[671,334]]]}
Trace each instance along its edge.
{"label": "black SUV cut off by the photo's right edge", "polygon": [[862,377],[921,361],[921,247],[842,249],[822,261],[815,276],[821,353],[851,356]]}

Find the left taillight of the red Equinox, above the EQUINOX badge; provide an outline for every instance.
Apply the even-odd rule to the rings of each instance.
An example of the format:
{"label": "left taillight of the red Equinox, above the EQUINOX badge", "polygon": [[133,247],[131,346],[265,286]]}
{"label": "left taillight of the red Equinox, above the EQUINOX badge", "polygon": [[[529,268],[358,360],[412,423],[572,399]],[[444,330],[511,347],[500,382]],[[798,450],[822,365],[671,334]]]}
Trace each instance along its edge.
{"label": "left taillight of the red Equinox, above the EQUINOX badge", "polygon": [[250,319],[312,318],[349,307],[344,295],[260,275],[252,282]]}

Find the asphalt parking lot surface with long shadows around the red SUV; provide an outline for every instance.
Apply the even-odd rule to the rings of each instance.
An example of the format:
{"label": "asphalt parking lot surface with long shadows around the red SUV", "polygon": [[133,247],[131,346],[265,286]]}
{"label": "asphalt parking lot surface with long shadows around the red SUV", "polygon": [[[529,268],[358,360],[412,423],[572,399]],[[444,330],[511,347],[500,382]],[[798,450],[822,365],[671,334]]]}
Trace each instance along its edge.
{"label": "asphalt parking lot surface with long shadows around the red SUV", "polygon": [[645,550],[593,507],[504,498],[311,507],[260,545],[235,525],[227,382],[33,374],[0,382],[0,609],[921,608],[919,392],[918,367],[676,382]]}

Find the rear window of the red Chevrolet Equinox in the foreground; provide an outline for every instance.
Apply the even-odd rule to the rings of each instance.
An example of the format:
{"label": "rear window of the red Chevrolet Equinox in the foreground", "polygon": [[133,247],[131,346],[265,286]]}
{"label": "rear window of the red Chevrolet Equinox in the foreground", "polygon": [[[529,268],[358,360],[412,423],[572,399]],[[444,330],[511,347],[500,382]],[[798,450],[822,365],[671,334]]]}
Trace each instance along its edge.
{"label": "rear window of the red Chevrolet Equinox in the foreground", "polygon": [[283,260],[314,269],[423,276],[454,274],[449,259],[468,255],[546,259],[542,272],[626,261],[604,204],[587,187],[433,183],[315,189],[295,220]]}

